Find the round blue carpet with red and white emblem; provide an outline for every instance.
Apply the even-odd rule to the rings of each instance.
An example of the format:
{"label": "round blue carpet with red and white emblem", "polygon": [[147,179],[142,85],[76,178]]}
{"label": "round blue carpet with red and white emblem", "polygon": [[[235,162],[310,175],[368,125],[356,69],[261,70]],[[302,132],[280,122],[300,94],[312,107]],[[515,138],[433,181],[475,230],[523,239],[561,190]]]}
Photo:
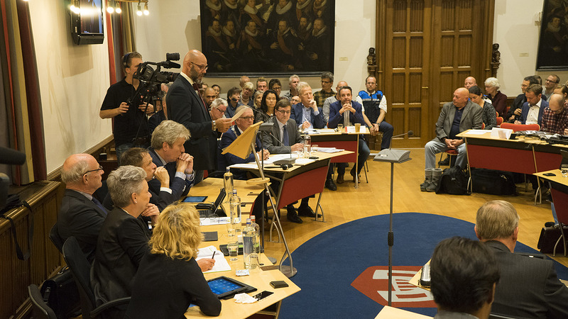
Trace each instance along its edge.
{"label": "round blue carpet with red and white emblem", "polygon": [[[444,238],[475,238],[474,224],[426,213],[395,214],[393,232],[393,272],[404,272],[409,267],[416,272]],[[386,290],[388,281],[373,279],[373,273],[378,274],[376,269],[388,265],[387,233],[388,215],[371,216],[327,230],[298,247],[292,254],[298,269],[292,281],[302,291],[283,301],[280,318],[375,318],[386,304],[375,301],[382,299],[376,283],[381,281],[378,286]],[[515,252],[537,251],[518,242]],[[568,279],[566,267],[558,262],[555,267],[560,279]],[[400,293],[410,290],[402,282],[397,289]],[[435,307],[431,301],[425,306],[417,301],[420,296],[403,298],[408,301],[393,306],[424,315],[436,313],[435,308],[429,308]]]}

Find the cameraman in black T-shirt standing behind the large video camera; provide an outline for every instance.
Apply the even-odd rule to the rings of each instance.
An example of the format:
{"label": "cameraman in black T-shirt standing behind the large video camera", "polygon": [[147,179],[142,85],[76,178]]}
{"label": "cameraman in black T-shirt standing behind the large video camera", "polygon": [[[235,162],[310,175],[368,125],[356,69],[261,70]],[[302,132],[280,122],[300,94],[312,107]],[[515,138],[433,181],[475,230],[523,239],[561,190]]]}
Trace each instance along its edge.
{"label": "cameraman in black T-shirt standing behind the large video camera", "polygon": [[[138,65],[142,63],[142,55],[138,52],[126,53],[122,59],[122,67],[126,77],[121,82],[112,84],[104,96],[101,111],[101,118],[114,118],[114,145],[116,147],[116,159],[120,162],[123,152],[133,146],[146,148],[150,146],[148,123],[146,114],[154,111],[154,106],[149,103],[142,103],[144,87],[141,93],[135,96],[131,103],[126,103],[132,98],[133,94],[141,84],[133,75],[138,70]],[[144,113],[146,111],[146,114]]]}

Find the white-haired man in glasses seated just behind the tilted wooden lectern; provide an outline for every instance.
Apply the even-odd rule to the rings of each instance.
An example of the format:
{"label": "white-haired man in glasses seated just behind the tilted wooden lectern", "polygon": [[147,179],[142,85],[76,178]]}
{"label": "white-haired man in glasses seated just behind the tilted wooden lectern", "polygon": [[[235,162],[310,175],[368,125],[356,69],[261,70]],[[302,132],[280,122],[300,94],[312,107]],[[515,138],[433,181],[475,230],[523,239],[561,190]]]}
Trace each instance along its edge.
{"label": "white-haired man in glasses seated just behind the tilted wooden lectern", "polygon": [[[246,157],[246,159],[242,159],[241,157],[237,157],[235,155],[232,155],[231,153],[221,155],[221,152],[225,147],[231,145],[231,143],[234,142],[234,140],[236,140],[239,135],[241,135],[247,128],[249,128],[249,126],[254,123],[254,113],[252,108],[250,108],[249,106],[241,105],[236,108],[236,113],[239,113],[241,110],[244,110],[244,113],[242,113],[241,116],[235,120],[235,125],[231,126],[231,128],[227,130],[226,133],[223,133],[223,136],[221,137],[218,157],[219,171],[224,171],[226,167],[231,166],[232,164],[254,162],[254,155],[252,152],[251,154],[249,154],[249,157]],[[257,156],[259,156],[258,159],[260,159],[260,156],[263,156],[264,159],[268,159],[270,152],[268,152],[268,150],[261,150],[261,140],[258,137],[256,138],[255,147],[256,154]],[[233,173],[233,177],[235,179],[247,179],[246,171],[243,171],[241,169],[231,169],[231,172]]]}

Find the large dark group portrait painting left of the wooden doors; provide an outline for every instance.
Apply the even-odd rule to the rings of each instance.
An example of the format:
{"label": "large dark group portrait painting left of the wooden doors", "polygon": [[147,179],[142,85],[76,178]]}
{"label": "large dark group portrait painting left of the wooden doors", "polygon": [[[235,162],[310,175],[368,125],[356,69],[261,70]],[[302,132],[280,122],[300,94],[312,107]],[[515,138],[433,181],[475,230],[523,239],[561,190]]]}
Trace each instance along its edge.
{"label": "large dark group portrait painting left of the wooden doors", "polygon": [[211,75],[333,69],[334,0],[200,0]]}

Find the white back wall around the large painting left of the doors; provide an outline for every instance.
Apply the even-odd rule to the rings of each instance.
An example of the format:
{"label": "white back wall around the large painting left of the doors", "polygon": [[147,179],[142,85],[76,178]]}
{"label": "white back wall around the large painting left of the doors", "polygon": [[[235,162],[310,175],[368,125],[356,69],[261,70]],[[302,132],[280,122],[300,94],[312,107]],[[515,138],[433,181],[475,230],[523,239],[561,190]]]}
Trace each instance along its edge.
{"label": "white back wall around the large painting left of the doors", "polygon": [[[354,90],[363,89],[367,76],[366,57],[375,42],[375,1],[336,1],[334,74],[335,82],[345,80]],[[149,16],[136,16],[136,48],[146,61],[159,62],[166,52],[201,50],[199,1],[150,1]],[[339,61],[346,57],[346,61]],[[177,71],[177,70],[176,70]],[[271,77],[268,77],[271,79]],[[288,78],[280,77],[283,91],[288,89]],[[301,77],[314,91],[321,88],[320,77]],[[256,80],[252,78],[251,80]],[[206,77],[203,82],[219,84],[226,94],[231,86],[239,85],[239,77]]]}

